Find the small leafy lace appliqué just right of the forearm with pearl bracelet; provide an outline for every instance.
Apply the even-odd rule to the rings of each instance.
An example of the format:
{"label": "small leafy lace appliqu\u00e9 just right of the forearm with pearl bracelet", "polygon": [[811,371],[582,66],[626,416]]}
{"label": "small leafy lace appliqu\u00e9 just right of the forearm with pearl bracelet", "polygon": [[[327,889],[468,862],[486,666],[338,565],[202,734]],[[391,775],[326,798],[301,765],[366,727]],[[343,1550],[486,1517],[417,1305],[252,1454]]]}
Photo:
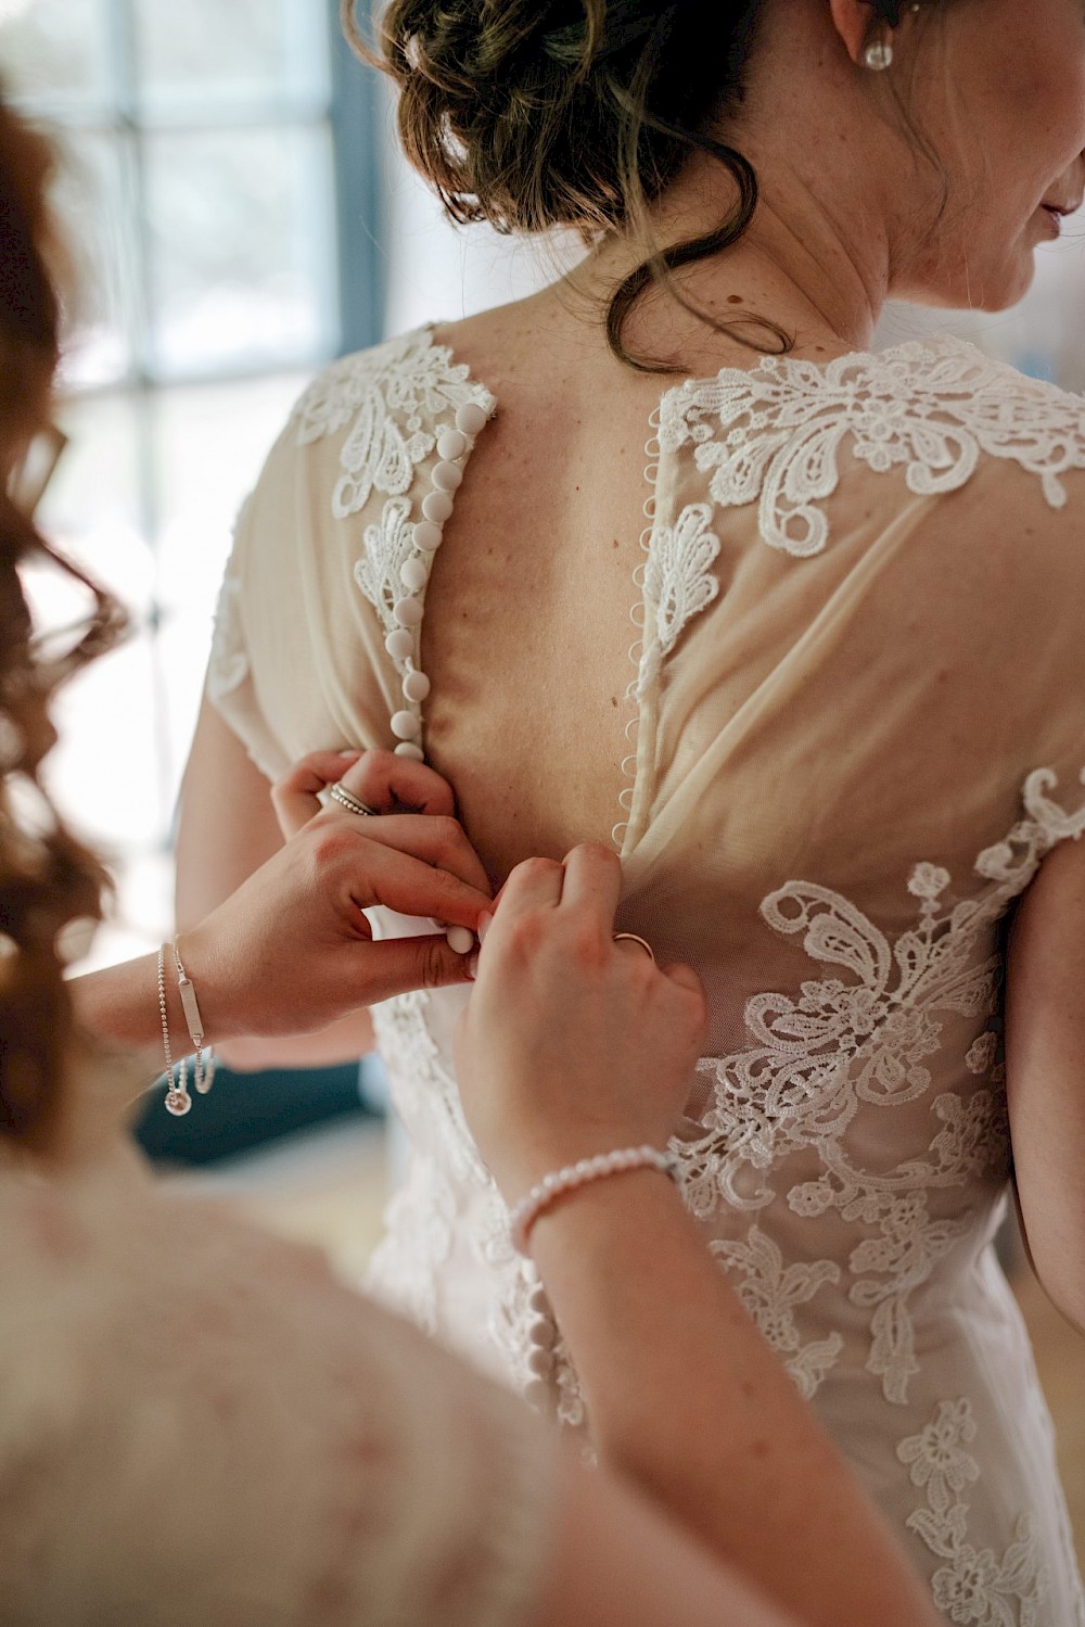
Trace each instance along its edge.
{"label": "small leafy lace appliqu\u00e9 just right of the forearm with pearl bracelet", "polygon": [[765,1342],[781,1357],[799,1393],[812,1401],[818,1385],[844,1347],[838,1333],[804,1344],[795,1326],[795,1305],[807,1305],[826,1282],[839,1282],[831,1259],[784,1266],[784,1256],[758,1225],[745,1243],[712,1241],[709,1250],[727,1271],[743,1272],[737,1293]]}

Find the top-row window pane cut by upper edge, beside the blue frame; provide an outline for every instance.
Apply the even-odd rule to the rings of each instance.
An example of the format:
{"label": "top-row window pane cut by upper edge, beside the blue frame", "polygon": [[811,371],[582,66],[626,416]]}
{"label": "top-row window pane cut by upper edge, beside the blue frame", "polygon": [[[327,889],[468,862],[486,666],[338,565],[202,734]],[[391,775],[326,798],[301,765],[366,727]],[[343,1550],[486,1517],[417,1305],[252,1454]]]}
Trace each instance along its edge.
{"label": "top-row window pane cut by upper edge, beside the blue frame", "polygon": [[135,24],[153,114],[197,93],[207,120],[208,99],[319,96],[327,85],[325,8],[314,0],[135,0]]}

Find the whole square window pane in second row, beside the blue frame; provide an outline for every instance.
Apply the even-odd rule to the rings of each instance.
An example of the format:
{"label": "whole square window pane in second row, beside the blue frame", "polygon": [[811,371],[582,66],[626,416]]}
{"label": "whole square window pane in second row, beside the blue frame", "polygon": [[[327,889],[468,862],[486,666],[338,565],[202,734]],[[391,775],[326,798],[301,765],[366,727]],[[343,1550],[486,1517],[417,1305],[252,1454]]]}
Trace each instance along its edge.
{"label": "whole square window pane in second row, beside the blue frame", "polygon": [[290,364],[333,343],[325,129],[146,142],[155,368]]}

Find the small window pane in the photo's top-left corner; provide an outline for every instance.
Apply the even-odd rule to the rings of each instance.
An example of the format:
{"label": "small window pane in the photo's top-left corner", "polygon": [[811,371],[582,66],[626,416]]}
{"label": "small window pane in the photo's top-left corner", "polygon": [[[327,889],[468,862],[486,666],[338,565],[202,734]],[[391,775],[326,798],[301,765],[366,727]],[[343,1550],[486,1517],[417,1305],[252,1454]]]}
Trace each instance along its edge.
{"label": "small window pane in the photo's top-left corner", "polygon": [[109,85],[104,0],[7,0],[3,76],[16,96],[101,103]]}

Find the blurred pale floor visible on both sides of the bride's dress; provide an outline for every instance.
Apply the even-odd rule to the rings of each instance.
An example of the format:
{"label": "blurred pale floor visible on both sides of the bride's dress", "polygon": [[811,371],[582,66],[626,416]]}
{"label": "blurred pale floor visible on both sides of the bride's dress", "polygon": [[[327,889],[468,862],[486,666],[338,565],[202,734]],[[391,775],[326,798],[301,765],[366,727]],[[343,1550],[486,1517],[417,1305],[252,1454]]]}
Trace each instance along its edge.
{"label": "blurred pale floor visible on both sides of the bride's dress", "polygon": [[[351,1119],[171,1180],[221,1194],[283,1237],[316,1243],[356,1285],[381,1235],[387,1168],[381,1126]],[[1085,1564],[1085,1339],[1054,1310],[1026,1264],[1015,1271],[1013,1289],[1054,1415],[1059,1468]]]}

